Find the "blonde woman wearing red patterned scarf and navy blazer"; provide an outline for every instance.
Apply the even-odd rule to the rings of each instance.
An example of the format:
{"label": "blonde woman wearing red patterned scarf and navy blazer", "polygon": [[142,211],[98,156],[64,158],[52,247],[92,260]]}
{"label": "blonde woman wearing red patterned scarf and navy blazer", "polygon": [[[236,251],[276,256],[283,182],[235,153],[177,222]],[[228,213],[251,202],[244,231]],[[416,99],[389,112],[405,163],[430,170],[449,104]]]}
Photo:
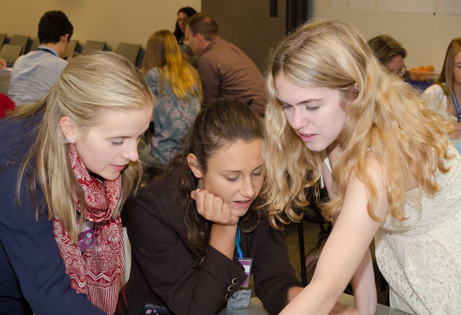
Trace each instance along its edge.
{"label": "blonde woman wearing red patterned scarf and navy blazer", "polygon": [[129,61],[74,58],[0,122],[0,314],[113,314],[120,209],[140,184],[154,96]]}

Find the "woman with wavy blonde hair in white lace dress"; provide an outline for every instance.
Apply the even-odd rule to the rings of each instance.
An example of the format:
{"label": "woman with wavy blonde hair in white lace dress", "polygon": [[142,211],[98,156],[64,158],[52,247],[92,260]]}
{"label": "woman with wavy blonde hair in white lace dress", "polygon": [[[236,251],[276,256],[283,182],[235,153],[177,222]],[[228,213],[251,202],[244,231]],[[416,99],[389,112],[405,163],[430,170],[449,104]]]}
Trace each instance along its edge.
{"label": "woman with wavy blonde hair in white lace dress", "polygon": [[[358,30],[313,21],[284,38],[266,74],[262,196],[273,224],[299,220],[326,187],[333,230],[312,281],[280,314],[374,314],[369,250],[390,304],[461,313],[461,157],[453,126],[385,71]],[[336,304],[350,281],[355,307]]]}

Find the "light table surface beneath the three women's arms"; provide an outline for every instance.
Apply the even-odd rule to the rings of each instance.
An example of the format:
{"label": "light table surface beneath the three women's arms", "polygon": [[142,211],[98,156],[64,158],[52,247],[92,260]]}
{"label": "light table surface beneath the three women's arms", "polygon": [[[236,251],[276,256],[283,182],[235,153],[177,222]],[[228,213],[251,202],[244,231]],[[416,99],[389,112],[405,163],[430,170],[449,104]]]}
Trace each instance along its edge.
{"label": "light table surface beneath the three women's arms", "polygon": [[[343,293],[338,302],[346,305],[354,305],[354,297]],[[250,307],[242,309],[227,310],[223,309],[218,315],[267,315],[268,312],[262,306],[261,301],[258,298],[252,298],[250,301]],[[390,308],[389,306],[378,304],[375,315],[408,315],[408,313]]]}

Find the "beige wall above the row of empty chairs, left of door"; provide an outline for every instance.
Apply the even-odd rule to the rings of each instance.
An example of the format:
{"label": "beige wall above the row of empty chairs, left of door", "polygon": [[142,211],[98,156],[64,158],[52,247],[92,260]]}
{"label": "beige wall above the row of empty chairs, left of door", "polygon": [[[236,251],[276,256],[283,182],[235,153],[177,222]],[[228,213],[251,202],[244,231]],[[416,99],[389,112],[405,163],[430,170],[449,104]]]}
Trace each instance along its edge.
{"label": "beige wall above the row of empty chairs, left of door", "polygon": [[44,12],[63,11],[74,26],[72,39],[142,44],[155,31],[174,31],[181,7],[201,11],[200,0],[0,0],[0,33],[37,36]]}

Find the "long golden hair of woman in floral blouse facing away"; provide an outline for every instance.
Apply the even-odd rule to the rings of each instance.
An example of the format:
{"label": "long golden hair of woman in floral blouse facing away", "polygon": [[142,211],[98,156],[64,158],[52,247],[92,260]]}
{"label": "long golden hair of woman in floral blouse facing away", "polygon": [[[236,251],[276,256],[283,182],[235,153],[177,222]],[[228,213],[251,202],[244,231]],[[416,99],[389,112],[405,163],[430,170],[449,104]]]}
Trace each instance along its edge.
{"label": "long golden hair of woman in floral blouse facing away", "polygon": [[158,67],[160,73],[162,94],[165,95],[164,87],[168,74],[171,89],[177,98],[187,100],[187,93],[190,93],[202,99],[199,74],[189,63],[183,60],[178,42],[173,33],[168,30],[155,32],[147,41],[146,55],[143,61],[144,76],[154,67]]}

